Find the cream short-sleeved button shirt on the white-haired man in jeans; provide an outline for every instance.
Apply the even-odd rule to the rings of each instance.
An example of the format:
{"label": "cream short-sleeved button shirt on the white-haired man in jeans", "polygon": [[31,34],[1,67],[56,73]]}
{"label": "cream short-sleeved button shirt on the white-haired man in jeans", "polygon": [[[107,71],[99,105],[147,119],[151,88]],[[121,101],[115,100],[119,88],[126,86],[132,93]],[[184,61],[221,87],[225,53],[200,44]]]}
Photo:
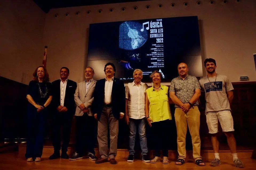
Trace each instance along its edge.
{"label": "cream short-sleeved button shirt on the white-haired man in jeans", "polygon": [[127,102],[127,114],[133,119],[142,119],[145,117],[145,97],[148,86],[146,83],[140,83],[139,86],[134,83],[128,83],[125,87],[125,98]]}

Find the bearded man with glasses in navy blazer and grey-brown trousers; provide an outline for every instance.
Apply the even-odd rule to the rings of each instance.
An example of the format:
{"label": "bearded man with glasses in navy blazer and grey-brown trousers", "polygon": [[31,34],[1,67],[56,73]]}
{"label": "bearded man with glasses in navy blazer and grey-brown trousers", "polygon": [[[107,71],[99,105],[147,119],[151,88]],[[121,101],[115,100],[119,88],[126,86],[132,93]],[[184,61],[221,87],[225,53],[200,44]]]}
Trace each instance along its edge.
{"label": "bearded man with glasses in navy blazer and grey-brown trousers", "polygon": [[[118,120],[125,113],[125,86],[120,79],[114,78],[115,65],[107,63],[104,67],[106,78],[97,81],[94,90],[93,113],[98,120],[98,143],[101,155],[95,163],[107,162],[117,164]],[[107,130],[110,133],[110,152],[108,152]]]}

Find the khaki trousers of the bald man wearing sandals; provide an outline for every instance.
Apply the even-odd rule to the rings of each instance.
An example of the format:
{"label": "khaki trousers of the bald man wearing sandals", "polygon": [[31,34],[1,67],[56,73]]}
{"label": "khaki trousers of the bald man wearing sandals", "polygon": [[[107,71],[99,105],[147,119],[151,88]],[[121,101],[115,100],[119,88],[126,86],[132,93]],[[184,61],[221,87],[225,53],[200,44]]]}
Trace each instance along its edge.
{"label": "khaki trousers of the bald man wearing sandals", "polygon": [[187,125],[189,125],[189,132],[193,145],[193,158],[195,160],[201,159],[201,140],[199,136],[200,112],[198,107],[191,107],[187,113],[184,113],[181,108],[176,108],[174,117],[177,128],[178,158],[184,160],[186,159],[186,134]]}

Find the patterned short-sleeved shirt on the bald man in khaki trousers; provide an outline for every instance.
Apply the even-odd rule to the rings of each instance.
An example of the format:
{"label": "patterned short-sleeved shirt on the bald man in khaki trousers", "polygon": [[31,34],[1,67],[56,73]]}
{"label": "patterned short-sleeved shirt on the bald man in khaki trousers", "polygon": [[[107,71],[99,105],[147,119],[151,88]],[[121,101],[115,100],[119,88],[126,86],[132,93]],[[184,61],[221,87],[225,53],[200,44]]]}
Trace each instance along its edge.
{"label": "patterned short-sleeved shirt on the bald man in khaki trousers", "polygon": [[[188,103],[195,94],[195,89],[201,89],[197,78],[187,75],[184,80],[181,77],[176,77],[171,80],[169,93],[175,92],[175,95],[182,103]],[[196,101],[193,105],[198,106],[198,101]],[[175,104],[175,108],[177,107],[179,106]]]}

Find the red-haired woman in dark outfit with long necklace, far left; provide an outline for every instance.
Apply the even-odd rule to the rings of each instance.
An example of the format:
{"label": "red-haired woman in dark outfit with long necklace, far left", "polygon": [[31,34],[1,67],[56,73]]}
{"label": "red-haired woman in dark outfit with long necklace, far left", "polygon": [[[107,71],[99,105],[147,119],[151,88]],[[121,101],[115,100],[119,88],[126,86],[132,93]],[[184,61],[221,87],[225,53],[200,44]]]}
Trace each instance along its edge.
{"label": "red-haired woman in dark outfit with long necklace, far left", "polygon": [[43,66],[37,67],[33,73],[33,80],[29,82],[27,100],[27,161],[41,161],[45,124],[49,112],[48,105],[52,99],[49,74]]}

